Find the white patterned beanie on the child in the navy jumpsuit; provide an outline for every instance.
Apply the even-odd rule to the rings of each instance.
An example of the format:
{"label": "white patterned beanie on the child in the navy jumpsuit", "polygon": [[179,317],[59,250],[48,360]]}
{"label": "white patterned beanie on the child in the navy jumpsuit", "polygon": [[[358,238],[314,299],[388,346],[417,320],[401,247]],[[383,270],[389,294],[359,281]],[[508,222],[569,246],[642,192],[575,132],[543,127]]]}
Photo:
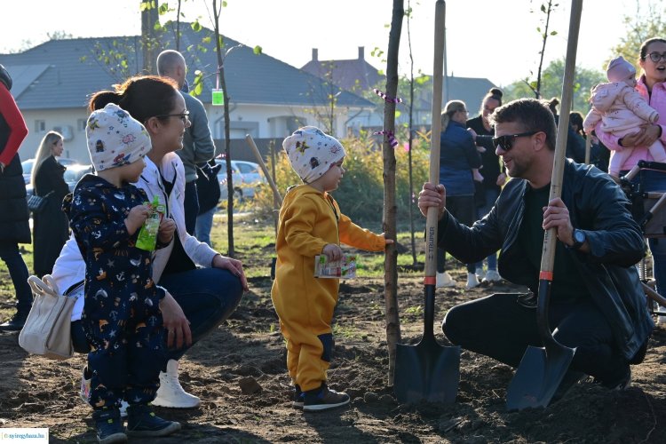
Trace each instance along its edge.
{"label": "white patterned beanie on the child in the navy jumpsuit", "polygon": [[146,128],[115,103],[91,113],[85,135],[97,171],[133,163],[152,147]]}

